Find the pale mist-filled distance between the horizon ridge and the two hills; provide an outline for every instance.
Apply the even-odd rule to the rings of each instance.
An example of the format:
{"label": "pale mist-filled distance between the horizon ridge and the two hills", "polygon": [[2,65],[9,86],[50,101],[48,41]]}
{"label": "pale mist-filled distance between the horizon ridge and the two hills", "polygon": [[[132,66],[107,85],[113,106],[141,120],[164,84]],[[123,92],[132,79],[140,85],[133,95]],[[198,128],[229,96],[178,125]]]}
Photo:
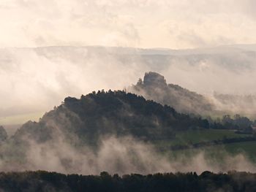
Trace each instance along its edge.
{"label": "pale mist-filled distance between the horizon ridge and the two hills", "polygon": [[45,112],[66,96],[123,89],[148,71],[197,93],[255,94],[253,47],[142,50],[121,47],[2,48],[0,116]]}

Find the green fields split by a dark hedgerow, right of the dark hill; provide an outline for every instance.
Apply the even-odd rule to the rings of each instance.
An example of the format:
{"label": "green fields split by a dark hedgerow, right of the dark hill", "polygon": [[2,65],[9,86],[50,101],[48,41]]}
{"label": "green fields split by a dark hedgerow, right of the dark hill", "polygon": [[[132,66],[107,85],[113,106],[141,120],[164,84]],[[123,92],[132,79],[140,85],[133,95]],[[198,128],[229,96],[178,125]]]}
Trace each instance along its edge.
{"label": "green fields split by a dark hedgerow, right of the dark hill", "polygon": [[206,156],[217,161],[221,161],[227,155],[243,154],[251,161],[256,163],[256,142],[236,142],[225,145],[213,145],[210,147],[200,147],[186,150],[171,151],[170,147],[175,145],[189,145],[198,142],[208,142],[224,138],[252,137],[251,134],[235,134],[233,130],[223,129],[203,129],[182,131],[176,134],[175,139],[157,140],[154,145],[167,153],[170,158],[176,157],[193,157],[196,154],[204,153]]}

